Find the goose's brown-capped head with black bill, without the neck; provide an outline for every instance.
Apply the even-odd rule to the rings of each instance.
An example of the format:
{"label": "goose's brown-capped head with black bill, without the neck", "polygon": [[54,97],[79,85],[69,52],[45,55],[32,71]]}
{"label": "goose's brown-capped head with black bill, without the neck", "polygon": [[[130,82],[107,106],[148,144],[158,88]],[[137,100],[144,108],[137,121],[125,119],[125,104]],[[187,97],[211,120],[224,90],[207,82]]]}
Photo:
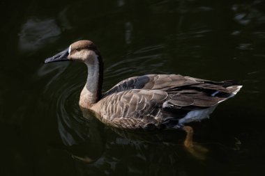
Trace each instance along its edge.
{"label": "goose's brown-capped head with black bill, without the neck", "polygon": [[96,45],[90,40],[79,40],[71,44],[68,48],[50,58],[45,59],[45,63],[59,61],[80,61],[86,65],[93,64],[94,58],[100,57],[100,52]]}

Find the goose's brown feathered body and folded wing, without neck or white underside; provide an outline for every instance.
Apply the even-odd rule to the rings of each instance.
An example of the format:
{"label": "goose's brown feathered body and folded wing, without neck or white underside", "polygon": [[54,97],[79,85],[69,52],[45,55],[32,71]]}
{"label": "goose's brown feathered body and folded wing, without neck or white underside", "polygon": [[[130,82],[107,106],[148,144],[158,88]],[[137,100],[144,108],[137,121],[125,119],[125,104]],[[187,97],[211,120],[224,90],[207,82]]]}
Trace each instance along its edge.
{"label": "goose's brown feathered body and folded wing, without neck or white underside", "polygon": [[105,93],[97,110],[105,123],[116,127],[176,127],[190,111],[209,109],[235,95],[241,86],[233,85],[233,81],[148,74],[118,83]]}

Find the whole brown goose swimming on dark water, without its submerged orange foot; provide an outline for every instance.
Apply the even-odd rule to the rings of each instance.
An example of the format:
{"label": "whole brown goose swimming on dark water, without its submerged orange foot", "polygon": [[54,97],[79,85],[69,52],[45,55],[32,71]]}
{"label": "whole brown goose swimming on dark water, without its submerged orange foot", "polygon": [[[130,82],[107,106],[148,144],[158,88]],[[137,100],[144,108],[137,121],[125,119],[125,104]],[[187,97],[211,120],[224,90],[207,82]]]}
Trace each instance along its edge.
{"label": "whole brown goose swimming on dark water, without its submerged orange foot", "polygon": [[[103,59],[90,40],[79,40],[45,63],[79,61],[88,76],[79,106],[103,123],[121,129],[185,129],[185,124],[209,118],[220,102],[242,88],[234,81],[209,81],[180,74],[130,77],[105,93]],[[185,131],[192,131],[186,128]]]}

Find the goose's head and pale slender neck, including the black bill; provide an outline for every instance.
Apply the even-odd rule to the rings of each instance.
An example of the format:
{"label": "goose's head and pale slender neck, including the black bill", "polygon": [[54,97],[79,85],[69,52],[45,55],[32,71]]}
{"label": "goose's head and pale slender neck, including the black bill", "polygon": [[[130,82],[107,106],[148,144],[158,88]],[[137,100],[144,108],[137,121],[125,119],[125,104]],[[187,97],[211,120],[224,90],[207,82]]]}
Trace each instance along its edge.
{"label": "goose's head and pale slender neck, including the black bill", "polygon": [[88,77],[79,99],[79,105],[89,107],[102,96],[103,60],[100,51],[90,40],[79,40],[59,54],[45,59],[45,63],[59,61],[79,61],[88,67]]}

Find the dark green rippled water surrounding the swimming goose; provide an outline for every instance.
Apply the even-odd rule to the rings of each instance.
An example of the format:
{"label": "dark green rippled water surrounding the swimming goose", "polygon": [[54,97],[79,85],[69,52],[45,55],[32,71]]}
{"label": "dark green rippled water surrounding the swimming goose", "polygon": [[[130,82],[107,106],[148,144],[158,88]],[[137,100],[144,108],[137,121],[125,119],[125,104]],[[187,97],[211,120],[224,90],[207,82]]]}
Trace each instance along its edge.
{"label": "dark green rippled water surrounding the swimming goose", "polygon": [[[1,176],[265,174],[264,1],[2,0],[0,8]],[[182,131],[127,134],[83,115],[85,66],[43,64],[80,39],[100,48],[104,90],[151,73],[240,81],[236,97],[192,124],[208,152],[188,152]]]}

